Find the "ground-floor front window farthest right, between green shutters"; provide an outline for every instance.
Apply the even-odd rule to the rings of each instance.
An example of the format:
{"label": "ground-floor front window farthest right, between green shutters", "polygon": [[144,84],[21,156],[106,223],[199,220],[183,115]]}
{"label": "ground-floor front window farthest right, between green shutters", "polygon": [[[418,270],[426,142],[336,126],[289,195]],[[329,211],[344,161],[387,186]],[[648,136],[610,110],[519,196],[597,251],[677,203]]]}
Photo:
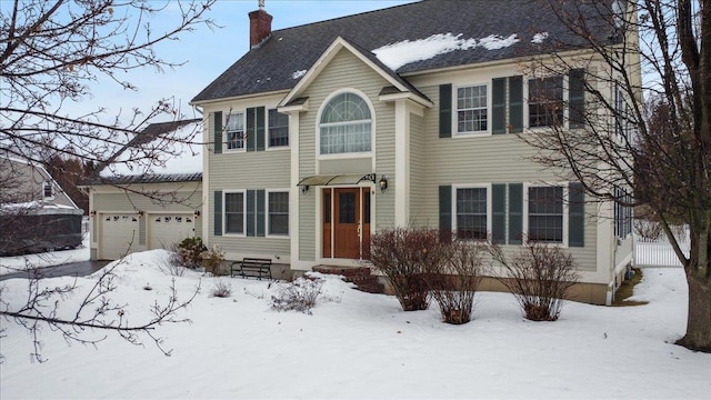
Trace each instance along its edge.
{"label": "ground-floor front window farthest right, between green shutters", "polygon": [[529,188],[529,240],[563,242],[563,187]]}

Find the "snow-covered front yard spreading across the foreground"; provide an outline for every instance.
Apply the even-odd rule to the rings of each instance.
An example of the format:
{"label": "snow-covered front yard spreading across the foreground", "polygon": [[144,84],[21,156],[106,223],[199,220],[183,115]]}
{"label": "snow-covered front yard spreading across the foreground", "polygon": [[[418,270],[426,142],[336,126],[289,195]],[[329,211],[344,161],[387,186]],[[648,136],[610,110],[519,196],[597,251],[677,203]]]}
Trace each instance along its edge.
{"label": "snow-covered front yard spreading across the foreground", "polygon": [[[117,267],[117,301],[129,318],[164,302],[173,277],[167,252],[136,253]],[[108,266],[107,268],[110,268]],[[97,278],[79,278],[86,288]],[[31,363],[32,339],[2,320],[0,398],[51,399],[708,399],[711,354],[672,344],[684,331],[682,269],[648,269],[639,307],[568,303],[557,322],[521,318],[510,294],[478,294],[474,320],[449,326],[430,310],[403,312],[393,297],[327,278],[312,314],[270,308],[277,284],[220,278],[231,298],[210,296],[218,278],[176,278],[179,299],[201,290],[157,332],[173,349],[136,347],[109,336],[98,348],[68,346],[42,331],[46,363]],[[73,278],[43,281],[47,286]],[[2,282],[2,301],[21,301],[27,281]],[[144,290],[150,286],[152,290]],[[79,296],[61,303],[71,309]],[[61,312],[60,312],[61,314]],[[91,334],[91,332],[88,332]]]}

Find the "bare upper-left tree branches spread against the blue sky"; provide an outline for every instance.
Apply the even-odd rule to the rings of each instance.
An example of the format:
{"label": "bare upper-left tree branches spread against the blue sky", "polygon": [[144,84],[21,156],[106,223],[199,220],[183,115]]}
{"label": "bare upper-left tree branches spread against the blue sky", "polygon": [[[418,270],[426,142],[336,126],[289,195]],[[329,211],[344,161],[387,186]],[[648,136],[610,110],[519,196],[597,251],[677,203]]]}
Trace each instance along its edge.
{"label": "bare upper-left tree branches spread against the blue sky", "polygon": [[[63,110],[91,98],[99,80],[137,90],[120,72],[137,69],[162,71],[181,62],[162,59],[154,46],[179,38],[199,26],[214,0],[154,2],[141,0],[21,1],[0,10],[0,150],[31,162],[42,154],[69,154],[99,166],[116,162],[132,167],[160,166],[177,156],[171,142],[187,142],[193,134],[162,134],[132,140],[158,116],[180,119],[170,99],[157,99],[150,110],[132,109],[108,118],[106,109],[80,116]],[[150,16],[168,7],[179,17],[166,31],[154,31]],[[157,140],[158,139],[158,140]],[[122,157],[119,158],[118,154]]]}

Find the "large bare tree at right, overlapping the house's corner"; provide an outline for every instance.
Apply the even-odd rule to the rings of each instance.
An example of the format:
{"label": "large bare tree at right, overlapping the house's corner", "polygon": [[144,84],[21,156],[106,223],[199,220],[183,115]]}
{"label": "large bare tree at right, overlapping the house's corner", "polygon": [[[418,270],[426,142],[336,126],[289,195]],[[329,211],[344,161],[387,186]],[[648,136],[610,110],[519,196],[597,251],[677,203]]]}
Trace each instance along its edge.
{"label": "large bare tree at right, overlapping the house's corner", "polygon": [[[678,343],[711,351],[711,1],[541,1],[584,43],[559,53],[564,36],[551,40],[550,58],[529,60],[532,73],[582,70],[584,94],[548,102],[555,123],[521,138],[593,199],[653,211],[689,283]],[[589,26],[590,12],[603,13],[607,29]],[[689,226],[689,256],[674,222]]]}

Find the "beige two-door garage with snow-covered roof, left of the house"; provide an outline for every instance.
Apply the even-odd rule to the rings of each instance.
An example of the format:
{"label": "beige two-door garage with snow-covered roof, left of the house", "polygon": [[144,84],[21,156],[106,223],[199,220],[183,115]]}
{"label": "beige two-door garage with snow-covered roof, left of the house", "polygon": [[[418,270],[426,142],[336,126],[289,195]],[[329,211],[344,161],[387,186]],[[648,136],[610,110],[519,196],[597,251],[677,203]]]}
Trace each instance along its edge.
{"label": "beige two-door garage with snow-covered roof, left of the house", "polygon": [[[199,122],[152,123],[127,148],[140,148],[178,129],[193,130]],[[191,167],[194,162],[188,160],[199,154],[183,151],[183,157],[168,160],[160,173],[127,174],[128,170],[117,167],[112,171],[104,169],[101,176],[87,182],[83,189],[91,210],[92,260],[116,260],[136,251],[170,249],[184,238],[202,236],[202,173],[199,163]]]}

